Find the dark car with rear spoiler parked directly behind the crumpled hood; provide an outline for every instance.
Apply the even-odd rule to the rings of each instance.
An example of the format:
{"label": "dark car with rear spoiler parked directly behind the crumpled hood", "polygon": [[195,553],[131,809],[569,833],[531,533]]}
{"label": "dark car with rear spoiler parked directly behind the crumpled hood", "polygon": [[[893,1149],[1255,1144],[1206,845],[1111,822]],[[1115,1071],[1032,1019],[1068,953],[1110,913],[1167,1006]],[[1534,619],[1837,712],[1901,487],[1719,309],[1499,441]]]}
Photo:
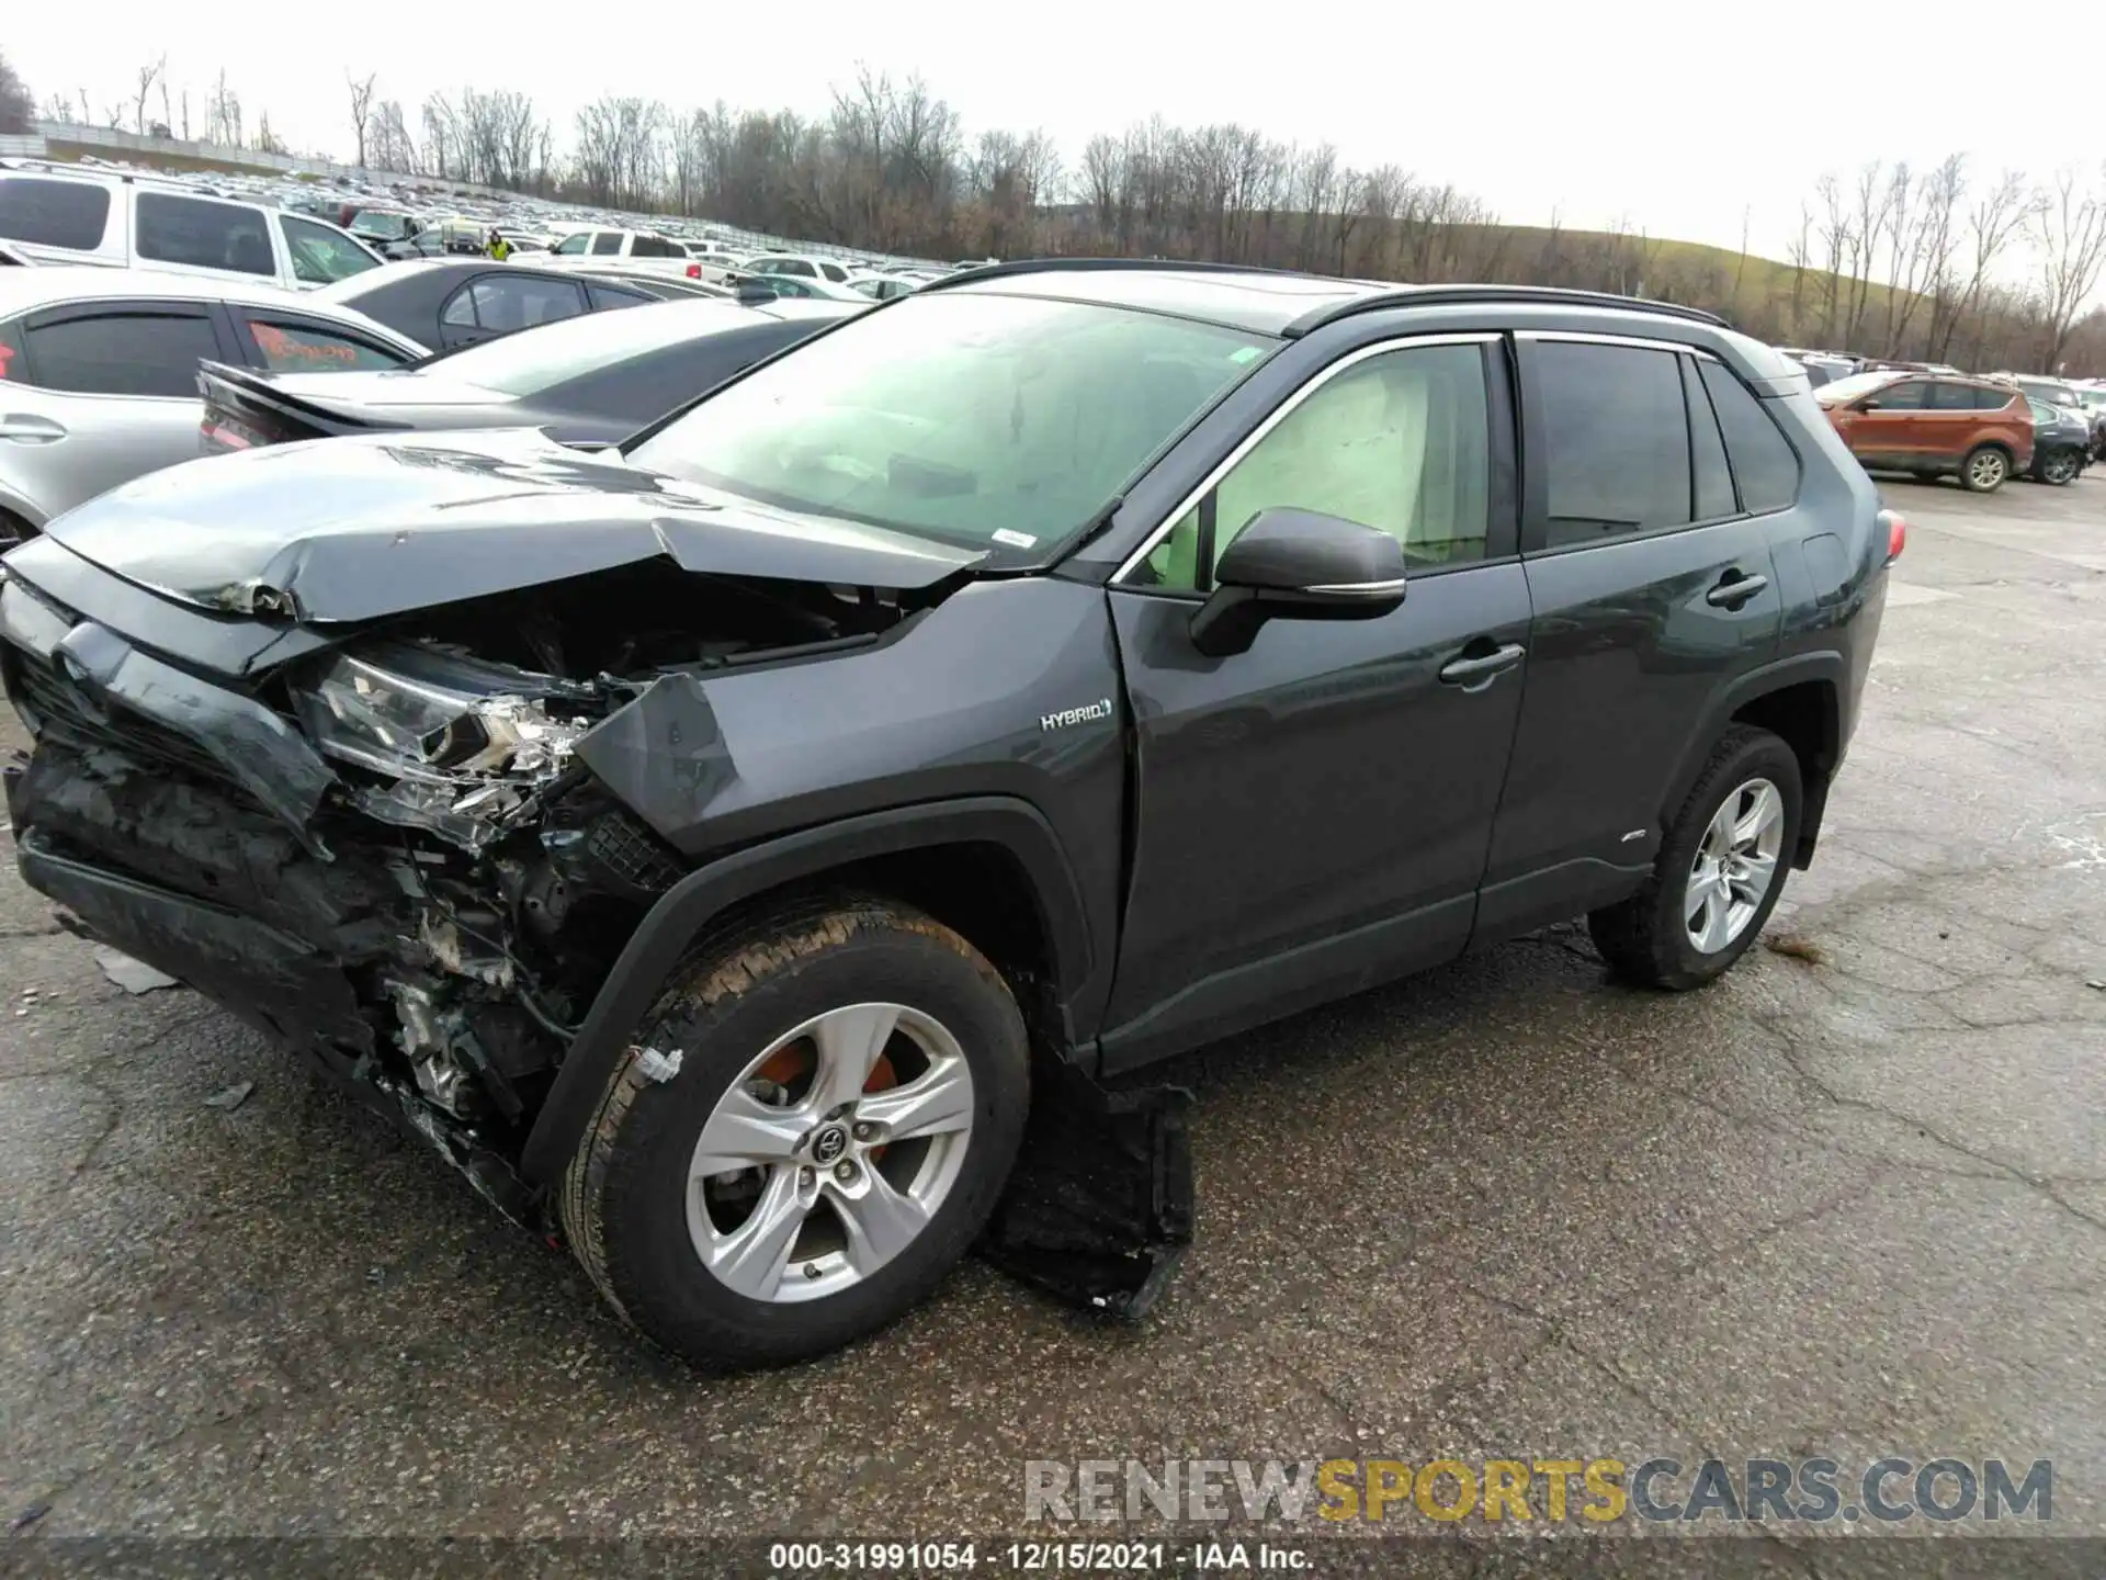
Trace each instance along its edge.
{"label": "dark car with rear spoiler parked directly behind the crumpled hood", "polygon": [[543,428],[567,445],[615,442],[857,312],[832,301],[663,301],[390,373],[204,362],[200,434],[206,453],[390,428]]}

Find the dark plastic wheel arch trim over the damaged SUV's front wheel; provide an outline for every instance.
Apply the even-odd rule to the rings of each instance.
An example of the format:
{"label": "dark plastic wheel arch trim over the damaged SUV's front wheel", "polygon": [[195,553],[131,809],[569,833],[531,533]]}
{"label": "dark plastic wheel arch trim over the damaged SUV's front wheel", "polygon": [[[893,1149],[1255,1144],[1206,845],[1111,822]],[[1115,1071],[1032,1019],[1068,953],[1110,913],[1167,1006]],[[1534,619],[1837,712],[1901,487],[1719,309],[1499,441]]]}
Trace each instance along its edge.
{"label": "dark plastic wheel arch trim over the damaged SUV's front wheel", "polygon": [[1070,1003],[1076,988],[1091,977],[1095,959],[1082,889],[1068,866],[1059,836],[1036,807],[1015,796],[967,796],[842,817],[735,851],[689,872],[659,895],[621,948],[621,959],[607,973],[564,1053],[548,1102],[541,1104],[520,1152],[520,1176],[531,1186],[548,1186],[569,1165],[607,1091],[615,1062],[712,916],[741,900],[847,862],[956,843],[1002,845],[1030,874],[1053,944],[1053,996],[1061,1032],[1072,1041]]}

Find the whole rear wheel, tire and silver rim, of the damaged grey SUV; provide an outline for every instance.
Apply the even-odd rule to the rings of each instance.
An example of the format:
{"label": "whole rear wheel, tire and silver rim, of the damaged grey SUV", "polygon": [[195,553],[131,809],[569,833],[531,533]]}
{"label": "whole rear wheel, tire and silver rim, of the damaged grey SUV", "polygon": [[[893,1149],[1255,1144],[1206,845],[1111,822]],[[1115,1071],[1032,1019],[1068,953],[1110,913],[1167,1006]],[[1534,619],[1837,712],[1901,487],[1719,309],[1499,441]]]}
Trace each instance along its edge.
{"label": "whole rear wheel, tire and silver rim, of the damaged grey SUV", "polygon": [[1792,748],[1735,725],[1676,811],[1653,876],[1588,916],[1609,967],[1643,986],[1685,990],[1748,952],[1784,891],[1803,788]]}

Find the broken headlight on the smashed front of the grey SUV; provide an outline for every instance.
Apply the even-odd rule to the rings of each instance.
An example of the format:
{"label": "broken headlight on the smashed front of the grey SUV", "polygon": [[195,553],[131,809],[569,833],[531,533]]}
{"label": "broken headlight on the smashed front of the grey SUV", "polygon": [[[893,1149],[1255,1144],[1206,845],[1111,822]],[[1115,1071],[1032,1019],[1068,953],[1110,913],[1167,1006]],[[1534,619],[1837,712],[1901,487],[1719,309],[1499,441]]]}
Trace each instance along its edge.
{"label": "broken headlight on the smashed front of the grey SUV", "polygon": [[316,748],[432,784],[560,769],[585,725],[552,714],[550,704],[583,695],[554,676],[406,643],[339,653],[293,689]]}

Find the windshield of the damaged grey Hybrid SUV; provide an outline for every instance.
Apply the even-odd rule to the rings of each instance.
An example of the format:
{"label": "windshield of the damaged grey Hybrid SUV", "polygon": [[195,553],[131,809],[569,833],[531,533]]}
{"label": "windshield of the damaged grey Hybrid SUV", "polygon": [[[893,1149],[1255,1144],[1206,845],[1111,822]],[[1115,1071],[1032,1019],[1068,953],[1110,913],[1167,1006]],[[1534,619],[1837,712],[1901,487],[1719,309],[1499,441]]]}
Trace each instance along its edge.
{"label": "windshield of the damaged grey Hybrid SUV", "polygon": [[630,459],[786,510],[1042,554],[1270,348],[1125,308],[908,297],[727,386]]}

